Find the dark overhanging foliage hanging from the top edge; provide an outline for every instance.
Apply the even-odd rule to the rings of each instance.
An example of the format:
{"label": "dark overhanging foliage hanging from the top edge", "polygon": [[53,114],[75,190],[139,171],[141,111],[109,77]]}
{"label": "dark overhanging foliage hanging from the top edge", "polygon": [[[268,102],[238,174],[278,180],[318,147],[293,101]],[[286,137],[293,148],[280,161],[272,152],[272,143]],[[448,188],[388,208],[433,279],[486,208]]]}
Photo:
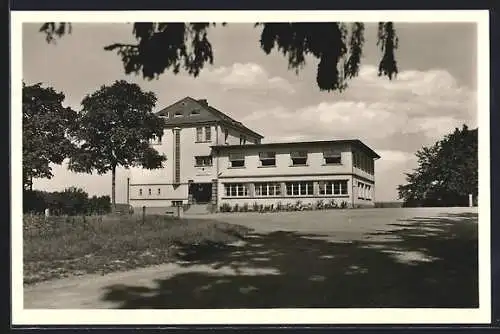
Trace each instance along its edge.
{"label": "dark overhanging foliage hanging from the top edge", "polygon": [[[198,76],[206,63],[212,64],[214,52],[208,39],[210,23],[140,22],[133,24],[137,43],[112,43],[105,50],[121,57],[125,73],[141,73],[152,79],[166,70],[181,69]],[[225,25],[225,24],[223,24]],[[260,48],[270,54],[283,54],[289,68],[298,72],[311,55],[319,60],[316,81],[320,90],[342,91],[358,75],[365,25],[362,22],[257,23],[261,28]],[[53,41],[71,31],[70,23],[47,22],[40,31]],[[398,73],[394,52],[398,38],[392,22],[379,22],[377,45],[382,57],[379,75],[392,79]]]}

